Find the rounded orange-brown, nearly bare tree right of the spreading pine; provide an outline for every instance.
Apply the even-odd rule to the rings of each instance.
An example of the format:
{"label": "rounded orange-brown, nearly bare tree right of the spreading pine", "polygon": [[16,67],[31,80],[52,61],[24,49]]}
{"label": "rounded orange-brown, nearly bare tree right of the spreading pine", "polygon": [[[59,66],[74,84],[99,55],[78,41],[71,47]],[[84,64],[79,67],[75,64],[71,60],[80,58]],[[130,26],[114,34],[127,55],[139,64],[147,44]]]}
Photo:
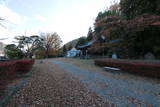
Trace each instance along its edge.
{"label": "rounded orange-brown, nearly bare tree right of the spreading pine", "polygon": [[60,36],[57,33],[41,33],[41,38],[46,57],[48,58],[49,54],[55,55],[54,52],[60,49],[62,43]]}

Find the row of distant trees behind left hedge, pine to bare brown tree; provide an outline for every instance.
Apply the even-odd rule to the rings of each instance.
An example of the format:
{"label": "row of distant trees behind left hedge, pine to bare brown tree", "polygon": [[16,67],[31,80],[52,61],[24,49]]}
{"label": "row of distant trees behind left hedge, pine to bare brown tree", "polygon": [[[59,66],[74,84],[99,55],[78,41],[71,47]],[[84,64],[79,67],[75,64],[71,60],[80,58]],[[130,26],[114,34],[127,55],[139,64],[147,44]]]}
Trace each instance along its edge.
{"label": "row of distant trees behind left hedge, pine to bare brown tree", "polygon": [[6,45],[5,54],[10,59],[56,57],[62,40],[57,33],[40,33],[32,36],[16,36],[15,43]]}

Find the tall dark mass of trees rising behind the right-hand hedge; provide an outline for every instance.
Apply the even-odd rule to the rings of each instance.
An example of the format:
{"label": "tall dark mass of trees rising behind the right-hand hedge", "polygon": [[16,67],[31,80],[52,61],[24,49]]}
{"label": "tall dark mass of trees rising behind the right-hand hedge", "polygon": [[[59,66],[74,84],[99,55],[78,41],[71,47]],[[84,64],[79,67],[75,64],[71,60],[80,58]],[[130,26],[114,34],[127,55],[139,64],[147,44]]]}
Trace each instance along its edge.
{"label": "tall dark mass of trees rising behind the right-hand hedge", "polygon": [[[86,37],[78,39],[77,45],[106,38],[103,47],[91,46],[88,52],[103,52],[107,56],[117,53],[120,58],[141,59],[152,53],[160,59],[159,25],[160,0],[120,0],[98,13],[93,29],[89,28]],[[76,46],[77,46],[76,45]],[[102,45],[102,44],[101,44]]]}

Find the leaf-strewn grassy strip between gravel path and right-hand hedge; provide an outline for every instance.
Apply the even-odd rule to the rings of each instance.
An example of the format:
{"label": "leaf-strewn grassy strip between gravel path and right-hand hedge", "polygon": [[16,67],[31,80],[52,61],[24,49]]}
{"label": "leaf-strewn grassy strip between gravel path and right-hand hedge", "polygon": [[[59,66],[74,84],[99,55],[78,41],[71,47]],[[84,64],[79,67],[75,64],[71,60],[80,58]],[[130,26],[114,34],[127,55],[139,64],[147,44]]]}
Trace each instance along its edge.
{"label": "leaf-strewn grassy strip between gravel path and right-hand hedge", "polygon": [[[50,59],[55,60],[55,59]],[[57,60],[69,62],[73,65],[76,65],[80,68],[87,69],[89,71],[100,73],[106,77],[118,79],[118,80],[128,80],[128,81],[143,81],[143,82],[149,82],[152,84],[160,84],[160,79],[157,78],[150,78],[146,76],[140,76],[136,74],[132,74],[126,71],[110,71],[106,70],[103,67],[95,66],[94,59],[79,59],[79,58],[58,58]],[[153,61],[152,61],[153,62]],[[158,61],[156,61],[158,62]]]}

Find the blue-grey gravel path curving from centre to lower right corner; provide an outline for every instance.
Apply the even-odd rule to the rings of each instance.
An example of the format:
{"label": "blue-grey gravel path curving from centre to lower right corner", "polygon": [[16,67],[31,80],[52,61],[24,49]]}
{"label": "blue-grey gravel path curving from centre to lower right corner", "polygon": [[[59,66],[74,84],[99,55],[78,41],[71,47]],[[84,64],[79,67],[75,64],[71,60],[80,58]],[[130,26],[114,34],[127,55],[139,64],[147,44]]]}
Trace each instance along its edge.
{"label": "blue-grey gravel path curving from centre to lower right corner", "polygon": [[[160,105],[159,82],[153,83],[153,81],[147,82],[143,79],[142,81],[126,77],[117,79],[62,60],[52,60],[52,62],[71,72],[81,82],[88,84],[89,89],[118,107],[159,107]],[[123,74],[119,76],[123,76]]]}

